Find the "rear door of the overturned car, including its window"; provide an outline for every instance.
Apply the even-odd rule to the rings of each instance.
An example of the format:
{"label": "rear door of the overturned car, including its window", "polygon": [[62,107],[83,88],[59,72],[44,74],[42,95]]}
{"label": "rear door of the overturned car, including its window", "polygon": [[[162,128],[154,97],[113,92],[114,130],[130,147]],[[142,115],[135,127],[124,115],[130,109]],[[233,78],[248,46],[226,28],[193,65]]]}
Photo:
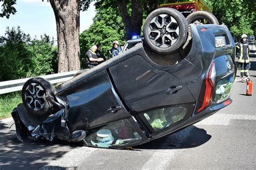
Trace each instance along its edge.
{"label": "rear door of the overturned car, including its window", "polygon": [[154,67],[144,57],[134,55],[110,67],[109,72],[130,114],[138,118],[151,136],[157,136],[186,123],[195,100],[186,84]]}

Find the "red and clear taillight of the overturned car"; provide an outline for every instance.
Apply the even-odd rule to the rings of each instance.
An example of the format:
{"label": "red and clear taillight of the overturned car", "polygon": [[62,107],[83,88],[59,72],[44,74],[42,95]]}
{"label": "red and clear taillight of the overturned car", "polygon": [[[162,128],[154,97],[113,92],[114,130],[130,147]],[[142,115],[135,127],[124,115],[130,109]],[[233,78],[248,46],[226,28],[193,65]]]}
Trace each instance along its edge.
{"label": "red and clear taillight of the overturned car", "polygon": [[197,110],[197,112],[200,112],[204,110],[206,107],[208,107],[212,102],[212,94],[215,84],[215,63],[214,61],[211,64],[210,70],[207,73],[206,80],[205,80],[205,95],[204,95],[204,101],[201,107]]}

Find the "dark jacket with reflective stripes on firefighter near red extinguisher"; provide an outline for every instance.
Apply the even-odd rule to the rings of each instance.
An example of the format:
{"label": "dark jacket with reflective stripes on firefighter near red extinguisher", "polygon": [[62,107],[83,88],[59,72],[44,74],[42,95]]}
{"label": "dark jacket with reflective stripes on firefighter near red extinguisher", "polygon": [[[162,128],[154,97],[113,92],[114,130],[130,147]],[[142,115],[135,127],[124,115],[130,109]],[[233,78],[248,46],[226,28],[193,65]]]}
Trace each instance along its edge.
{"label": "dark jacket with reflective stripes on firefighter near red extinguisher", "polygon": [[239,51],[238,51],[238,62],[242,62],[242,63],[250,62],[249,43],[247,41],[245,43],[238,42],[236,47],[239,49]]}

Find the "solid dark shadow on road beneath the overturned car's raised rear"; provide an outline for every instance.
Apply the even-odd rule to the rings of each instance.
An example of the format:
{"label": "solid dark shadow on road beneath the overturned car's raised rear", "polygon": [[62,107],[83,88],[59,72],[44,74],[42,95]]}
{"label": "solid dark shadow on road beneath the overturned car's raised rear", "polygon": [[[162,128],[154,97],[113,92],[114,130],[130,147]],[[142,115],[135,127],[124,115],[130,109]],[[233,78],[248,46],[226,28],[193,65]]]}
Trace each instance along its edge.
{"label": "solid dark shadow on road beneath the overturned car's raised rear", "polygon": [[211,139],[211,135],[207,134],[204,129],[197,128],[196,126],[188,126],[186,129],[179,131],[169,136],[162,137],[139,146],[134,146],[134,149],[182,149],[192,148],[203,145]]}

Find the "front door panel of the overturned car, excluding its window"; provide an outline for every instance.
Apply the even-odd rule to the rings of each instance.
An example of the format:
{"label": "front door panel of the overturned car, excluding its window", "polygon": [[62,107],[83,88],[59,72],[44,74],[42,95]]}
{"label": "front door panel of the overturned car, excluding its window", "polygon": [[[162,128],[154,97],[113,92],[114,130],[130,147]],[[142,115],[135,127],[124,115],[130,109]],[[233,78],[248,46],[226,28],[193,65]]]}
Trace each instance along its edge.
{"label": "front door panel of the overturned car, excluding its window", "polygon": [[106,70],[89,77],[78,77],[80,82],[70,86],[58,97],[69,103],[68,121],[71,131],[97,126],[131,117],[124,108]]}

